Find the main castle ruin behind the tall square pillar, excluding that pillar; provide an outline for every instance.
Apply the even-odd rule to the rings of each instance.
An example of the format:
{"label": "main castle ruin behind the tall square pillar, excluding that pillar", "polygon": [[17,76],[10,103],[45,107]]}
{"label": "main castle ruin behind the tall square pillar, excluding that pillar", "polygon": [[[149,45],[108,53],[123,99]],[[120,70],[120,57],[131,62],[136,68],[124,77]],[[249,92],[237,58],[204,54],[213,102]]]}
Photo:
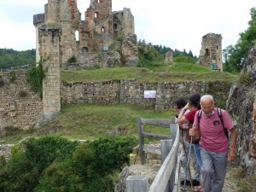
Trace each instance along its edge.
{"label": "main castle ruin behind the tall square pillar, excluding that pillar", "polygon": [[[86,61],[95,53],[99,54],[108,51],[111,44],[115,44],[115,38],[127,36],[124,43],[112,49],[119,50],[118,55],[113,55],[109,60],[118,60],[115,65],[108,65],[107,60],[104,64],[96,61],[101,67],[116,67],[120,63],[120,57],[125,56],[122,66],[136,66],[137,64],[137,36],[134,30],[134,17],[131,9],[124,8],[122,11],[112,12],[112,0],[90,0],[90,7],[85,12],[85,18],[80,18],[77,8],[77,0],[48,0],[44,5],[44,14],[33,16],[33,24],[37,32],[37,61],[40,56],[45,56],[42,50],[42,36],[38,35],[39,28],[42,26],[60,26],[61,33],[59,38],[60,46],[60,65],[66,63],[69,58],[75,55],[77,58],[87,56]],[[78,39],[76,37],[78,34]],[[88,53],[84,55],[84,53]],[[80,63],[80,61],[79,61]],[[95,63],[91,63],[93,65]],[[120,67],[119,65],[118,67]]]}

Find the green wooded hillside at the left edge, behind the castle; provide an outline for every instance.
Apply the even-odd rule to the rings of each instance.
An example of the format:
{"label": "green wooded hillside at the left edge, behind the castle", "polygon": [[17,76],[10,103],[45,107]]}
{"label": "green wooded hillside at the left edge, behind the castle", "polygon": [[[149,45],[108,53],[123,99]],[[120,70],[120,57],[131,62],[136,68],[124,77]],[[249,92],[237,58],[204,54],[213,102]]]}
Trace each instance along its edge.
{"label": "green wooded hillside at the left edge, behind the castle", "polygon": [[36,63],[36,49],[0,49],[0,68],[19,67]]}

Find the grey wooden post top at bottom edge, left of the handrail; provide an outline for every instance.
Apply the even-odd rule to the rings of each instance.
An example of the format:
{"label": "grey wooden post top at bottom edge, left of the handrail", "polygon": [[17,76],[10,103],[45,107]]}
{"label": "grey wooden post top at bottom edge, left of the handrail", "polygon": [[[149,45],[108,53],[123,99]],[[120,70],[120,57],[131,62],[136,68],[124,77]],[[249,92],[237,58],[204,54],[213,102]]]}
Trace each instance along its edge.
{"label": "grey wooden post top at bottom edge, left of the handrail", "polygon": [[147,192],[148,176],[136,175],[126,178],[126,192]]}

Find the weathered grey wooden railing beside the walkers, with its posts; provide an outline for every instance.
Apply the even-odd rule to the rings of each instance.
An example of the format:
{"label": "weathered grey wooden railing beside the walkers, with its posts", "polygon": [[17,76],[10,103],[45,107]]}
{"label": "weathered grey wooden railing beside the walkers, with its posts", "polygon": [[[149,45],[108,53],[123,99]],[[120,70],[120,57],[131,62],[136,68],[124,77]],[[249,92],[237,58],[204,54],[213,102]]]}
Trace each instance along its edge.
{"label": "weathered grey wooden railing beside the walkers, with its posts", "polygon": [[[129,176],[126,179],[126,192],[177,192],[179,191],[179,129],[178,125],[172,119],[143,119],[137,118],[139,148],[141,154],[142,165],[145,163],[145,151],[154,154],[160,154],[162,166],[154,178],[148,190],[148,176]],[[143,124],[157,125],[168,127],[171,131],[171,136],[155,135],[152,133],[143,132]],[[161,150],[158,151],[152,148],[144,147],[143,138],[155,138],[161,140]]]}

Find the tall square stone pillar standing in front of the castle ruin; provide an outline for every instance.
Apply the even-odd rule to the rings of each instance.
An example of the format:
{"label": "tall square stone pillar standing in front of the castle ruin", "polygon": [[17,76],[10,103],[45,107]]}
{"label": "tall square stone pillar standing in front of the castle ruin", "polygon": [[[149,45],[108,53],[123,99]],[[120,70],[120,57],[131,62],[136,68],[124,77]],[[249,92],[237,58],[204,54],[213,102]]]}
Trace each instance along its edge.
{"label": "tall square stone pillar standing in front of the castle ruin", "polygon": [[43,113],[39,124],[42,125],[61,111],[61,26],[42,25],[39,27],[39,37],[42,54],[48,58],[43,64],[46,77],[43,80]]}

